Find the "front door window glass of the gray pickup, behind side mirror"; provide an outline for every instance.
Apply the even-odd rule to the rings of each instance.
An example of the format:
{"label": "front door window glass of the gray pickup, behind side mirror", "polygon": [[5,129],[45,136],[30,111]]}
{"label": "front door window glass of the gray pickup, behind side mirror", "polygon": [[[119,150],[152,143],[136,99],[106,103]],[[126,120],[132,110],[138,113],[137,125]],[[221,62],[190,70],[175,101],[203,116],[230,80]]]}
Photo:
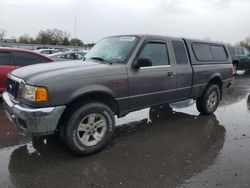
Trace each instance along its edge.
{"label": "front door window glass of the gray pickup, behind side mirror", "polygon": [[147,43],[139,58],[150,58],[152,66],[169,65],[168,51],[165,43]]}

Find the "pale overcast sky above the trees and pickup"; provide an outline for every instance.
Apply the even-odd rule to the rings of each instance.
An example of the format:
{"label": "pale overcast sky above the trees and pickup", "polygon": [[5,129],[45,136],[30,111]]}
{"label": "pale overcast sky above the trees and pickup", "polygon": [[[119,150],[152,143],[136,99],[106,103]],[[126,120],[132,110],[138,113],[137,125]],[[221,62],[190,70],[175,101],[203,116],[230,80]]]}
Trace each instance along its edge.
{"label": "pale overcast sky above the trees and pickup", "polygon": [[157,34],[235,44],[250,35],[249,0],[0,0],[6,38],[61,29],[84,42]]}

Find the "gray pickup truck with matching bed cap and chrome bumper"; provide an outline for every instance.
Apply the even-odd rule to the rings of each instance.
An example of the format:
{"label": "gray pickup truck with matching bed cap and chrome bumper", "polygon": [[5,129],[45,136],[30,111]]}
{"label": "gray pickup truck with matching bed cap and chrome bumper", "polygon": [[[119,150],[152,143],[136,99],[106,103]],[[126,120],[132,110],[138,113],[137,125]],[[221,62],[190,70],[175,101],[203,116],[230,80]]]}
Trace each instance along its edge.
{"label": "gray pickup truck with matching bed cap and chrome bumper", "polygon": [[100,40],[85,61],[32,65],[8,75],[6,114],[32,135],[59,131],[76,154],[102,149],[115,115],[185,99],[212,114],[233,66],[225,45],[153,35]]}

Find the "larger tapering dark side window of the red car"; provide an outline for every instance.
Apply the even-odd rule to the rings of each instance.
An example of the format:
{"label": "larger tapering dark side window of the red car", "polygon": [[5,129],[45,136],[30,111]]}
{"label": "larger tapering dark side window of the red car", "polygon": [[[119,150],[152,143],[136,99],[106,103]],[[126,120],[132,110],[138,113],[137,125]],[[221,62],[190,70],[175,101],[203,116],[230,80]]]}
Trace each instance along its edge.
{"label": "larger tapering dark side window of the red car", "polygon": [[27,66],[38,63],[49,62],[47,58],[28,52],[14,52],[14,56],[15,56],[15,63],[17,66]]}

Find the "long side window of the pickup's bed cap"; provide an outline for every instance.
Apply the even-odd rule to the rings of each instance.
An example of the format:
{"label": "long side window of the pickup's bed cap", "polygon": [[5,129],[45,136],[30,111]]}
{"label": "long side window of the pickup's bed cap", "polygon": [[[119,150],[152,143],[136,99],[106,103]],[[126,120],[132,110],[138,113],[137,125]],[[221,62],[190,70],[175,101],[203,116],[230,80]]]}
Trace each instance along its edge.
{"label": "long side window of the pickup's bed cap", "polygon": [[194,54],[198,61],[225,61],[228,59],[224,46],[208,43],[193,43]]}

